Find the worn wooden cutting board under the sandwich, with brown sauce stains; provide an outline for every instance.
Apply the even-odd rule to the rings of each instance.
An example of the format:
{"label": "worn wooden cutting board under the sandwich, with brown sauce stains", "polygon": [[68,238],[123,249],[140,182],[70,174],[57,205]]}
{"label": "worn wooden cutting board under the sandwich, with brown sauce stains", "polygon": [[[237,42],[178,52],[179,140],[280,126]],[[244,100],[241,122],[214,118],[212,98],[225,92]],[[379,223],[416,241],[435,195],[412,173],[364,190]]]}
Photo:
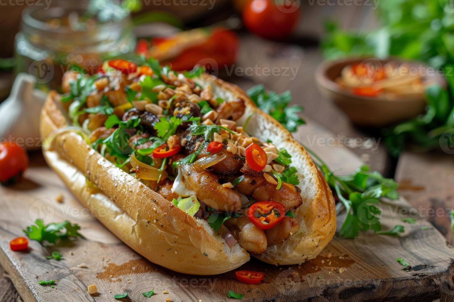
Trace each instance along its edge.
{"label": "worn wooden cutting board under the sandwich, with brown sauce stains", "polygon": [[[329,136],[309,123],[301,126],[295,138],[311,146],[332,170],[347,173],[358,167],[360,160],[346,148],[323,146],[321,142]],[[237,282],[234,272],[192,276],[148,262],[74,199],[40,153],[31,154],[30,159],[24,182],[0,187],[0,264],[25,301],[104,302],[115,301],[114,294],[124,292],[131,300],[120,301],[234,301],[227,298],[228,290],[244,294],[243,301],[431,301],[439,297],[446,301],[454,297],[452,248],[422,218],[412,225],[401,221],[412,209],[405,200],[382,205],[385,230],[405,225],[400,237],[366,233],[345,240],[336,235],[320,256],[301,265],[276,267],[252,259],[241,269],[261,271],[265,278],[263,283],[247,285]],[[59,194],[63,203],[56,201]],[[28,252],[12,252],[9,241],[23,235],[21,230],[44,213],[46,223],[66,219],[78,223],[85,239],[46,247],[32,241]],[[338,220],[340,228],[342,217]],[[45,259],[54,250],[64,259]],[[396,262],[399,257],[410,263],[410,271]],[[40,279],[54,279],[57,284],[44,287],[38,284]],[[98,294],[87,292],[90,284],[96,284]],[[151,289],[157,294],[143,297],[142,292]]]}

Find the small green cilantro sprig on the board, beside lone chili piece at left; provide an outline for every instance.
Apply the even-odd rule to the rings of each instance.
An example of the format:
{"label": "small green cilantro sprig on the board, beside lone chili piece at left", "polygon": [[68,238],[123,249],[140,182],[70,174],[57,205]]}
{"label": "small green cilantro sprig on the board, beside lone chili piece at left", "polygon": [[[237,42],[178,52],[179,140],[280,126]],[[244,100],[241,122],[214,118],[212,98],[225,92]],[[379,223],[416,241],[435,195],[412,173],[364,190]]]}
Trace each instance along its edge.
{"label": "small green cilantro sprig on the board, beside lone chili piece at left", "polygon": [[40,244],[43,244],[44,241],[55,244],[57,241],[66,238],[83,238],[79,230],[80,226],[78,224],[71,224],[67,220],[59,223],[51,222],[44,225],[44,221],[37,219],[35,225],[27,226],[23,231],[31,240],[36,240]]}

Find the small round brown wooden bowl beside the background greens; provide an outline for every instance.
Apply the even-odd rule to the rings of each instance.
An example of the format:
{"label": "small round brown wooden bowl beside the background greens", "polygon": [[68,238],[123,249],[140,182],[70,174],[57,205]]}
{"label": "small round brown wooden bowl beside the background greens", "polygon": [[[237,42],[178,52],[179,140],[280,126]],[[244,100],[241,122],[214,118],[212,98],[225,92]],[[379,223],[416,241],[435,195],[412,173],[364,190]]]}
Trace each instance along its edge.
{"label": "small round brown wooden bowl beside the background greens", "polygon": [[[341,108],[354,124],[361,126],[384,127],[424,112],[426,106],[424,96],[399,97],[393,100],[383,96],[357,96],[336,83],[336,78],[341,76],[345,66],[360,63],[366,59],[368,58],[344,58],[321,63],[316,71],[316,82],[321,93]],[[426,65],[419,62],[406,62],[396,58],[378,61],[383,65],[391,61],[405,62],[410,67],[422,67],[422,70],[427,70],[424,69]],[[423,81],[437,82],[446,86],[444,77],[435,72],[426,72]]]}

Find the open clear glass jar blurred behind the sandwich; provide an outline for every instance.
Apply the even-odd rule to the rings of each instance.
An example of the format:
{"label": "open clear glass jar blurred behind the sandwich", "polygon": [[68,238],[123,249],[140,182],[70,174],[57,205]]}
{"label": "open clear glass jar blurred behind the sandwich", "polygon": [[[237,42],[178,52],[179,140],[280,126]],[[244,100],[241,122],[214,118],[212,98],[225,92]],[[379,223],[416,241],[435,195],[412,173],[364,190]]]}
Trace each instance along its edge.
{"label": "open clear glass jar blurred behind the sandwich", "polygon": [[136,38],[130,15],[112,1],[58,1],[24,10],[15,39],[16,74],[27,72],[43,91],[59,89],[74,65],[96,73],[106,59],[133,52]]}

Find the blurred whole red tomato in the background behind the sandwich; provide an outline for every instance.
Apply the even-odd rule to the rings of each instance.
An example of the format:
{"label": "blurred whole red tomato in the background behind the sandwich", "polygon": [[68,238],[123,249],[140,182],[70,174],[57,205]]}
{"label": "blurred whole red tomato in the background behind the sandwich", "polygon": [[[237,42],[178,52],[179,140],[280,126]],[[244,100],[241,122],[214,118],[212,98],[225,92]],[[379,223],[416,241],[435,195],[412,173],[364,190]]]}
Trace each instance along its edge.
{"label": "blurred whole red tomato in the background behind the sandwich", "polygon": [[299,5],[293,1],[286,5],[276,0],[249,0],[243,10],[243,22],[261,37],[285,38],[298,23]]}

